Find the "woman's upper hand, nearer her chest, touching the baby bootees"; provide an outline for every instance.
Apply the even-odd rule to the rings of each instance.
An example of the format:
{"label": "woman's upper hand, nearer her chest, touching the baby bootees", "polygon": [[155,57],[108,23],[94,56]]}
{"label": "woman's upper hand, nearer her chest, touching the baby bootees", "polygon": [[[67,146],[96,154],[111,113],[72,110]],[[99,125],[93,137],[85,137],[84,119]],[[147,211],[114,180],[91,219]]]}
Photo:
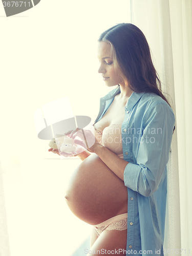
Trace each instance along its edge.
{"label": "woman's upper hand, nearer her chest, touching the baby bootees", "polygon": [[83,130],[77,128],[76,130],[72,131],[71,134],[68,136],[72,139],[75,139],[75,137],[78,136],[82,141],[75,139],[75,143],[83,146],[84,148],[86,148],[86,150],[92,153],[95,153],[96,147],[100,145],[100,143],[97,141],[97,139],[90,130]]}

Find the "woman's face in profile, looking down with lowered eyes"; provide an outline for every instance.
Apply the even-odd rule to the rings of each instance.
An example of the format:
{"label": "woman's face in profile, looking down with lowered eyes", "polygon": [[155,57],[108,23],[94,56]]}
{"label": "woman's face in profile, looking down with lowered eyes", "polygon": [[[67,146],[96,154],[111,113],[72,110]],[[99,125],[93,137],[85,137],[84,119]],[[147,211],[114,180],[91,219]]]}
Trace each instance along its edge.
{"label": "woman's face in profile, looking down with lowered eyes", "polygon": [[99,59],[98,72],[102,74],[106,86],[116,86],[123,82],[122,78],[115,72],[114,62],[111,56],[111,45],[109,42],[98,42],[97,56]]}

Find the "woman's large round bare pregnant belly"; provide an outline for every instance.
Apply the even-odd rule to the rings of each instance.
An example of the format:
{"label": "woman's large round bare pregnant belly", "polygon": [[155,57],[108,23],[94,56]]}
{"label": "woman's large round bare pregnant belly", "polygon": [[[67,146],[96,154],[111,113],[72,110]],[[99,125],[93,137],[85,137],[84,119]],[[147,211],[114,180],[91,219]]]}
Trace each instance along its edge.
{"label": "woman's large round bare pregnant belly", "polygon": [[92,154],[74,170],[66,201],[75,216],[91,225],[127,212],[127,187]]}

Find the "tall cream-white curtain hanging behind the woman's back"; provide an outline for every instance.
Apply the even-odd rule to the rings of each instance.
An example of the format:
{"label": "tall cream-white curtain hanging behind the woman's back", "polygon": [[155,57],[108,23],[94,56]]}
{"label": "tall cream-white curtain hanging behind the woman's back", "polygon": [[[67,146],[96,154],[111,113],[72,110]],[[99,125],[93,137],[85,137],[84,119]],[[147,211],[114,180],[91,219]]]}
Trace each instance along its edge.
{"label": "tall cream-white curtain hanging behind the woman's back", "polygon": [[168,163],[164,248],[170,249],[167,253],[172,253],[171,255],[178,255],[178,251],[180,254],[181,248],[182,255],[190,255],[192,1],[132,0],[131,9],[132,23],[146,36],[162,81],[162,90],[176,117],[176,130]]}

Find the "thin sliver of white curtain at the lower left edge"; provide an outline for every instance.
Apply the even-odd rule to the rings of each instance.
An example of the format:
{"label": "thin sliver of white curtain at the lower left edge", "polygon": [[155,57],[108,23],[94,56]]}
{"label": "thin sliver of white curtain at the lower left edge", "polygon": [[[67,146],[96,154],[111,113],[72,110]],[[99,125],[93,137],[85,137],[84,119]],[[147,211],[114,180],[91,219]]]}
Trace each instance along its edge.
{"label": "thin sliver of white curtain at the lower left edge", "polygon": [[10,256],[7,214],[4,195],[4,182],[0,162],[0,256]]}

